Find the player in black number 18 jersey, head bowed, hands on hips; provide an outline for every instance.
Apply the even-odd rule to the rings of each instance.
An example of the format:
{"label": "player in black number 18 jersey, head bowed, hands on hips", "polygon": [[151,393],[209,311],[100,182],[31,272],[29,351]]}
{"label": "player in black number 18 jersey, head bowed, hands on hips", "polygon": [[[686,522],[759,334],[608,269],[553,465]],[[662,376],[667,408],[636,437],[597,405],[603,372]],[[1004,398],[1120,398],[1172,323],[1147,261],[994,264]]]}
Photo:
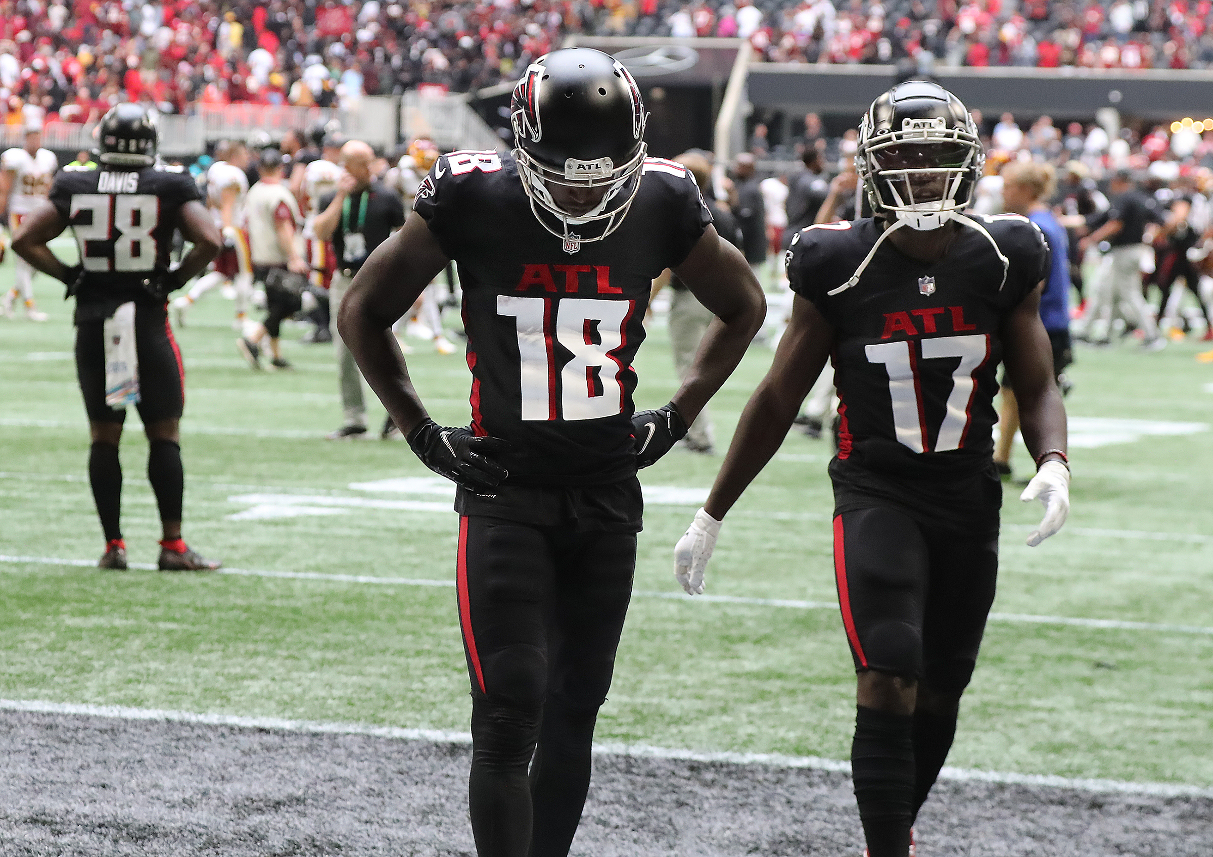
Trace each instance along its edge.
{"label": "player in black number 18 jersey, head bowed, hands on hips", "polygon": [[[438,159],[354,278],[338,330],[412,450],[459,484],[477,850],[563,857],[631,596],[636,472],[734,370],[764,301],[690,172],[647,156],[640,92],[615,59],[546,55],[512,113],[513,154]],[[448,259],[472,370],[461,428],[429,419],[391,331]],[[673,400],[634,412],[632,359],[665,268],[717,318]]]}

